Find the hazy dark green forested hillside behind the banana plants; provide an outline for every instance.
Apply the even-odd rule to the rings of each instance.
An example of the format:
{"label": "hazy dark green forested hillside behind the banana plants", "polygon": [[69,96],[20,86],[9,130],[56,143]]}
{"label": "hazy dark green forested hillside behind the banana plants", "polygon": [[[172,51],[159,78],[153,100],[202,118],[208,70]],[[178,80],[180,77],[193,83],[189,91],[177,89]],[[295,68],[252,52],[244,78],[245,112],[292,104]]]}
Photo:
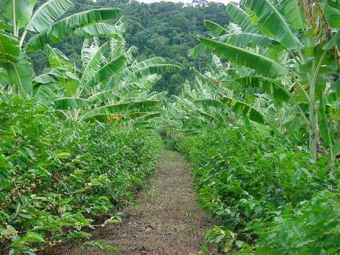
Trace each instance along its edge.
{"label": "hazy dark green forested hillside behind the banana plants", "polygon": [[[39,1],[43,3],[44,1]],[[200,58],[189,58],[188,51],[197,44],[197,35],[206,34],[204,20],[219,22],[223,26],[229,24],[224,4],[208,3],[202,6],[184,5],[184,3],[152,3],[145,4],[136,0],[91,0],[73,1],[74,7],[67,12],[91,10],[91,8],[120,8],[123,10],[122,21],[126,28],[127,45],[136,46],[137,60],[145,60],[160,56],[172,64],[179,64],[179,73],[167,73],[157,82],[154,89],[178,94],[183,82],[195,77],[190,67],[206,70],[210,62],[209,55]],[[56,44],[71,62],[81,66],[80,49],[82,38],[71,37]],[[42,71],[48,68],[46,53],[40,51],[31,55],[34,68]]]}

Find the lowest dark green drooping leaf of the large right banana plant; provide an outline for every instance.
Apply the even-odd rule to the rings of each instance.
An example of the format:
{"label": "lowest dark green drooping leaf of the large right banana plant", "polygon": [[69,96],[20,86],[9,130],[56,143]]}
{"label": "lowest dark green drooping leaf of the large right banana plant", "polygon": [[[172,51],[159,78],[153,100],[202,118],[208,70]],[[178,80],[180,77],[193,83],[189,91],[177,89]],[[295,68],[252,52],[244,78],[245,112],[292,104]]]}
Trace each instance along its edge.
{"label": "lowest dark green drooping leaf of the large right banana plant", "polygon": [[265,76],[245,76],[235,81],[245,86],[262,87],[264,91],[273,94],[274,98],[282,102],[287,102],[291,98],[289,91],[280,82]]}

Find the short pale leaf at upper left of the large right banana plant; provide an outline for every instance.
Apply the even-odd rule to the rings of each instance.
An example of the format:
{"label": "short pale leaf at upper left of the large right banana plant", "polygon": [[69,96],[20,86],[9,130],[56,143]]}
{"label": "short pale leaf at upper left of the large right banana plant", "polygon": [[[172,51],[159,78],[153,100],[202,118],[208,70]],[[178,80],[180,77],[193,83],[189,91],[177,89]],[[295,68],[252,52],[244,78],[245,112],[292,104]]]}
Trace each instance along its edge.
{"label": "short pale leaf at upper left of the large right banana plant", "polygon": [[235,6],[233,3],[228,3],[226,5],[226,13],[227,15],[242,29],[244,33],[259,33],[259,29],[256,28],[251,23],[251,19],[247,12],[244,12],[238,6]]}

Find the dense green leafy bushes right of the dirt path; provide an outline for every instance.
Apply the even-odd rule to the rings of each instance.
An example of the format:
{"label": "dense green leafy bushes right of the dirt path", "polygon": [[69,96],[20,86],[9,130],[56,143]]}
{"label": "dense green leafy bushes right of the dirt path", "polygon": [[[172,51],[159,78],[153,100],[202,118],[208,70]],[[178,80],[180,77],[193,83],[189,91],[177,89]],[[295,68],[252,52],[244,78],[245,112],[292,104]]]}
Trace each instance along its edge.
{"label": "dense green leafy bushes right of the dirt path", "polygon": [[220,251],[251,254],[258,243],[258,254],[335,253],[339,162],[314,162],[294,134],[242,128],[188,137],[181,150],[193,162],[202,206],[223,225],[207,233]]}

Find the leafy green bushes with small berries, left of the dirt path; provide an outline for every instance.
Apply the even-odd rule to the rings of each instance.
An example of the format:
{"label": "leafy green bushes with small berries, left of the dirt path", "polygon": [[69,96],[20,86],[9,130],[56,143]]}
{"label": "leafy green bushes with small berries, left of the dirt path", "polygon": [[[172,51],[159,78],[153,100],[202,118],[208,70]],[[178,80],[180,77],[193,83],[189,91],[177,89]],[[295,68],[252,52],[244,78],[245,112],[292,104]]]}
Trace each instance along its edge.
{"label": "leafy green bushes with small berries, left of the dirt path", "polygon": [[63,123],[33,100],[1,96],[0,253],[89,239],[93,220],[132,199],[160,148],[152,131]]}

